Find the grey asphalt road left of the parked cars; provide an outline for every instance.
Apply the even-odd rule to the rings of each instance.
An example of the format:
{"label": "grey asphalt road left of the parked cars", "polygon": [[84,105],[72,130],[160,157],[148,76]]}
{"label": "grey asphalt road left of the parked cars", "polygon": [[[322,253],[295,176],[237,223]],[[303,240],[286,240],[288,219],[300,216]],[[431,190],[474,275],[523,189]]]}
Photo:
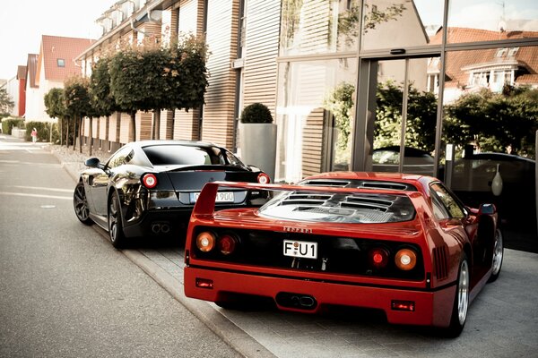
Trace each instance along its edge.
{"label": "grey asphalt road left of the parked cars", "polygon": [[0,135],[0,357],[237,357],[74,216],[73,179]]}

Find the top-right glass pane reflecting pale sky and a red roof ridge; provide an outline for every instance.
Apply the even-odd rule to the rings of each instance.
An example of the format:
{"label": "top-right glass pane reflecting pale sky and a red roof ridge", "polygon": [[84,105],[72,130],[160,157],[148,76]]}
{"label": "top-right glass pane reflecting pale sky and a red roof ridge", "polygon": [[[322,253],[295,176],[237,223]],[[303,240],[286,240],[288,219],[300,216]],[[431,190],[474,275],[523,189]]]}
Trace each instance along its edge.
{"label": "top-right glass pane reflecting pale sky and a red roof ridge", "polygon": [[[450,0],[448,3],[448,42],[538,35],[535,33],[538,31],[538,2],[535,0]],[[534,35],[525,33],[529,31],[534,31]]]}

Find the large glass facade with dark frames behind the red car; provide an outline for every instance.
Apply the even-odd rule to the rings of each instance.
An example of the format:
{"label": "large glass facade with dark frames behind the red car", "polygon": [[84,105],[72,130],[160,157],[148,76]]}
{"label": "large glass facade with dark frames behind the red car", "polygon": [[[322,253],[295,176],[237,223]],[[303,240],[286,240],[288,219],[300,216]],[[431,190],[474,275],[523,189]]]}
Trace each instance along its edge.
{"label": "large glass facade with dark frames behind the red car", "polygon": [[[529,198],[535,238],[537,2],[282,0],[279,54],[277,182],[341,169],[438,176],[466,203],[496,203],[508,231],[524,226],[508,198]],[[461,162],[484,152],[520,169]]]}

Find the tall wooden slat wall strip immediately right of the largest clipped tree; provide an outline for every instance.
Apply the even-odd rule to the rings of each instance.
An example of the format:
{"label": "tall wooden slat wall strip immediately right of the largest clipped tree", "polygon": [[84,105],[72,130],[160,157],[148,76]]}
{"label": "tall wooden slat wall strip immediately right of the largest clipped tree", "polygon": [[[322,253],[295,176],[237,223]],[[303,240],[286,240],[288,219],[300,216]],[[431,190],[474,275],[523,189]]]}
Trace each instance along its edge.
{"label": "tall wooden slat wall strip immediately right of the largest clipped tree", "polygon": [[207,44],[211,55],[205,94],[202,139],[231,148],[233,144],[236,72],[230,68],[237,57],[239,0],[210,0]]}

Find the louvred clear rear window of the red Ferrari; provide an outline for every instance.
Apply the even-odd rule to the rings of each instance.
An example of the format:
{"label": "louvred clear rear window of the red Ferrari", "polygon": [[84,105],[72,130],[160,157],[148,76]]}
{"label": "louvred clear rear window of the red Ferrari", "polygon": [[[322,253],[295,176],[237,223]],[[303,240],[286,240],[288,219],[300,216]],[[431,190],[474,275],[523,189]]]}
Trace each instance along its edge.
{"label": "louvred clear rear window of the red Ferrari", "polygon": [[331,223],[395,223],[412,220],[405,195],[282,192],[260,208],[264,217]]}

